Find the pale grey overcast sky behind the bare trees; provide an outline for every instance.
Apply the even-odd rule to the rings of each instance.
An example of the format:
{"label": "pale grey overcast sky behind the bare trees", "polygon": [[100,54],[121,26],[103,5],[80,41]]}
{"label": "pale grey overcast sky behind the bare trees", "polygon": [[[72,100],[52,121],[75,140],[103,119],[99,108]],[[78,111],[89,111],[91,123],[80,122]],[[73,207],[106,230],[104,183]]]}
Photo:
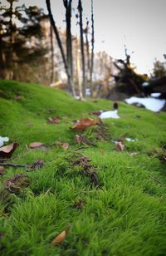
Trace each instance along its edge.
{"label": "pale grey overcast sky behind the bare trees", "polygon": [[[2,3],[5,0],[2,0]],[[44,0],[20,0],[46,11]],[[90,0],[82,0],[84,17],[90,19]],[[73,0],[76,13],[77,0]],[[62,0],[51,0],[56,26],[65,29]],[[152,71],[154,59],[166,62],[166,0],[94,0],[95,52],[105,51],[125,59],[125,46],[136,71]],[[73,13],[72,31],[79,33]]]}

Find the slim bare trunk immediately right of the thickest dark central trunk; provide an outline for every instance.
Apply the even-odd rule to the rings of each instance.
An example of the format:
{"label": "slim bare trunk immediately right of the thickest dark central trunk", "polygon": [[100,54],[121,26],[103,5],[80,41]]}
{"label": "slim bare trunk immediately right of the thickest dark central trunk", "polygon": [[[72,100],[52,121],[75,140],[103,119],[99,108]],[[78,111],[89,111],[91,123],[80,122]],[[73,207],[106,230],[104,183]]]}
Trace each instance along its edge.
{"label": "slim bare trunk immediately right of the thickest dark central trunk", "polygon": [[84,31],[82,22],[82,2],[78,0],[78,11],[80,14],[80,36],[81,36],[81,57],[82,57],[82,94],[85,97],[86,84],[85,84],[85,53],[84,53]]}

